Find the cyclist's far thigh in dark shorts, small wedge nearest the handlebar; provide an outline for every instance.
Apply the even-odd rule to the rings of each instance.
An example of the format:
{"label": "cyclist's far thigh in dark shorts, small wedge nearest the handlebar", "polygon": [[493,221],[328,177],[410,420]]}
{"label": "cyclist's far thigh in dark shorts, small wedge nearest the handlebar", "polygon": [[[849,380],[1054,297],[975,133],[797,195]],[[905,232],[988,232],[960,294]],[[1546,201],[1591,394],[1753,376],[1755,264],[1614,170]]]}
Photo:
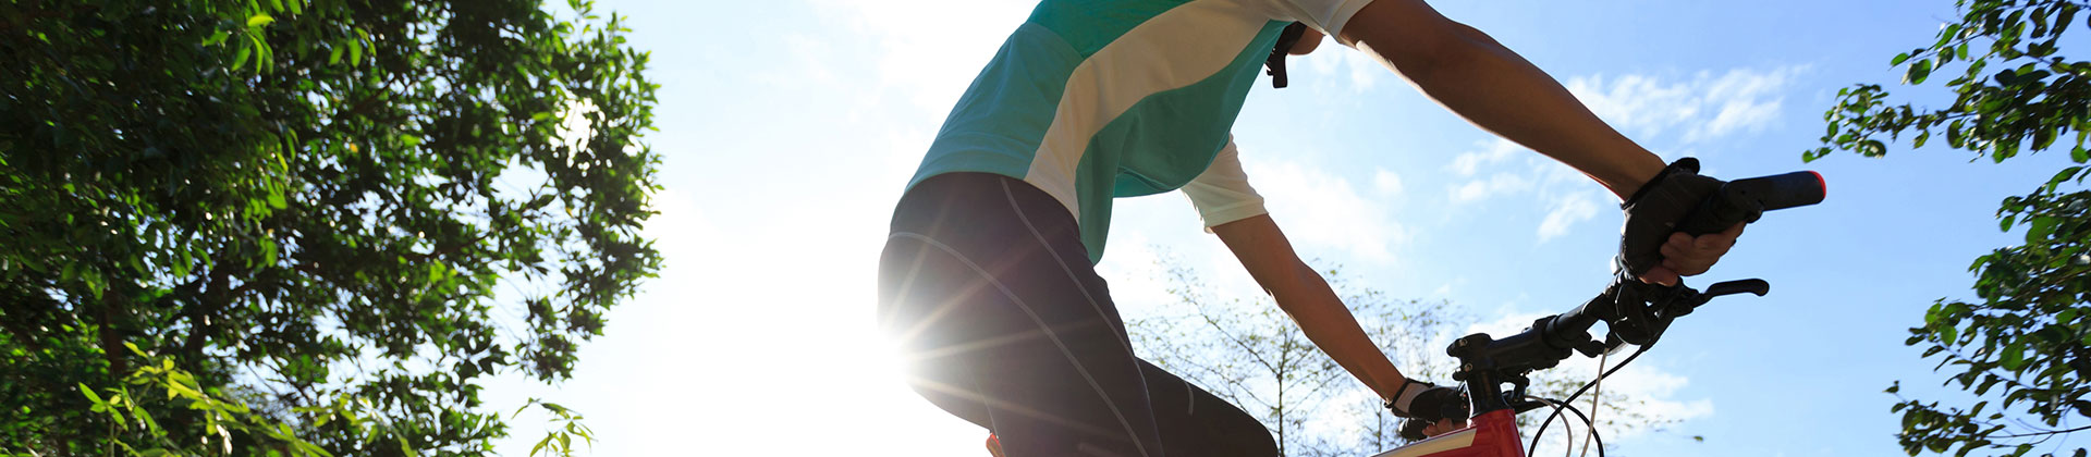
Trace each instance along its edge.
{"label": "cyclist's far thigh in dark shorts, small wedge nearest the handlebar", "polygon": [[1140,361],[1148,405],[1169,455],[1273,457],[1278,442],[1263,422],[1154,363]]}

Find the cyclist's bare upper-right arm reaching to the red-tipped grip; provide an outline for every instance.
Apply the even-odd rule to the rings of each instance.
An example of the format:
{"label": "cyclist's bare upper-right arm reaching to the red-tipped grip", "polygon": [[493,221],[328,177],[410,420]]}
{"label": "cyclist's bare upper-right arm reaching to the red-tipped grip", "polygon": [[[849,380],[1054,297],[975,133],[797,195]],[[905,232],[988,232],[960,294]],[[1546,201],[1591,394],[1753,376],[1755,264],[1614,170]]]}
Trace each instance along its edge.
{"label": "cyclist's bare upper-right arm reaching to the red-tipped grip", "polygon": [[1575,167],[1625,200],[1662,159],[1606,125],[1539,67],[1418,0],[1380,0],[1342,33],[1474,125]]}

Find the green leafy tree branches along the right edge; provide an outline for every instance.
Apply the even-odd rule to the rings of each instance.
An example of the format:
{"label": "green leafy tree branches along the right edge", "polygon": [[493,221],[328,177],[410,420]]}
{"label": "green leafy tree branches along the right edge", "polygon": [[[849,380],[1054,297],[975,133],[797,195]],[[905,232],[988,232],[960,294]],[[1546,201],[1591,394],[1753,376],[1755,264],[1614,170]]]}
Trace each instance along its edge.
{"label": "green leafy tree branches along the right edge", "polygon": [[[2091,417],[2091,175],[2085,148],[2091,131],[2091,63],[2060,54],[2062,35],[2078,27],[2087,2],[2074,0],[1957,0],[1959,17],[1945,23],[1936,42],[1897,54],[1907,86],[1926,86],[1947,73],[1947,106],[1888,102],[1888,92],[1861,83],[1838,92],[1823,146],[1882,157],[1888,144],[1911,136],[1922,148],[1934,134],[1974,159],[2007,161],[2020,152],[2068,150],[2072,165],[2030,192],[2003,198],[2001,230],[2024,227],[2024,244],[1976,257],[1976,298],[1940,298],[1911,328],[1907,344],[1938,359],[1945,384],[1978,399],[1974,405],[1903,399],[1899,440],[1905,451],[1955,455],[2024,455],[2035,444],[2085,430],[2072,415]],[[2087,25],[2091,27],[2091,25]],[[1901,384],[1888,392],[1899,394]],[[2076,449],[2085,455],[2085,449]]]}

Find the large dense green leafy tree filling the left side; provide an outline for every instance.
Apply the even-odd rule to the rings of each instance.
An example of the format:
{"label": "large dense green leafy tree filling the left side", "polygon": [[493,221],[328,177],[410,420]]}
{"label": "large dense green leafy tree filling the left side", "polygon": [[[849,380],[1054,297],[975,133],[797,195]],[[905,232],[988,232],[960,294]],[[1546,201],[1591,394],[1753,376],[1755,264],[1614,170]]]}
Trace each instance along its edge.
{"label": "large dense green leafy tree filling the left side", "polygon": [[[0,453],[282,451],[226,417],[489,453],[479,382],[567,378],[661,263],[659,86],[617,15],[569,6],[0,4]],[[217,403],[96,409],[169,371]],[[343,399],[383,426],[324,419]]]}

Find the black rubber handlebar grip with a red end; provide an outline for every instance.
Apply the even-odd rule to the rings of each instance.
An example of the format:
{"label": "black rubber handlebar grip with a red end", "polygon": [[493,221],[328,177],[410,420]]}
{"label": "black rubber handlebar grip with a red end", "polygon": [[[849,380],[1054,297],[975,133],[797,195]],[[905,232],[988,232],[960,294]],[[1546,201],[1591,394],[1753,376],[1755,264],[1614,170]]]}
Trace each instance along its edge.
{"label": "black rubber handlebar grip with a red end", "polygon": [[1823,175],[1815,171],[1736,179],[1706,196],[1677,223],[1677,232],[1692,236],[1721,232],[1736,223],[1756,221],[1765,211],[1817,205],[1825,194]]}

